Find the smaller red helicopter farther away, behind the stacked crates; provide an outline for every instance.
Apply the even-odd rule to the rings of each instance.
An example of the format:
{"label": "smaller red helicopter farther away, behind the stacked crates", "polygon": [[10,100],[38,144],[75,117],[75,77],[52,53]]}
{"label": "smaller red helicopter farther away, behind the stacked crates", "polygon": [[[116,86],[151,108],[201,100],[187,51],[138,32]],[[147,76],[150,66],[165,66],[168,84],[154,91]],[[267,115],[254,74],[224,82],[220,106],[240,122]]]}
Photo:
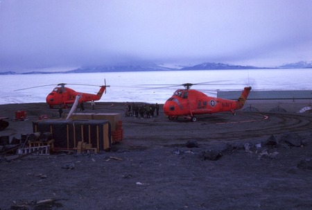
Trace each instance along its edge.
{"label": "smaller red helicopter farther away, behind the stacked crates", "polygon": [[[55,105],[62,105],[65,108],[68,107],[68,105],[73,104],[75,102],[75,99],[77,96],[80,96],[78,103],[85,103],[92,100],[100,100],[103,93],[106,92],[106,87],[110,87],[110,85],[102,85],[100,86],[100,90],[97,94],[87,94],[82,92],[74,91],[73,89],[69,87],[65,87],[65,85],[82,85],[82,84],[66,84],[66,83],[60,83],[51,91],[51,93],[46,96],[46,103],[53,108]],[[50,85],[42,85],[37,87],[44,87],[44,86],[50,86]],[[97,86],[97,85],[87,85],[87,86]],[[24,89],[30,89],[35,87],[28,87]],[[22,90],[22,89],[17,89]],[[16,91],[17,91],[16,90]]]}

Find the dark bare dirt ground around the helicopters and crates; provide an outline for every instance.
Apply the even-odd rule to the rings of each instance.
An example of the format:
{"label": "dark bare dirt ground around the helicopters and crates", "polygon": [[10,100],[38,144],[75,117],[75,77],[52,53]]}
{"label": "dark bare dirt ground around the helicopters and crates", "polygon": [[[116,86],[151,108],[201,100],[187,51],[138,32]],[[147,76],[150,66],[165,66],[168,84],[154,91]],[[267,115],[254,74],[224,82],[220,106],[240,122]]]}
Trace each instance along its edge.
{"label": "dark bare dirt ground around the helicopters and crates", "polygon": [[[0,209],[312,209],[311,113],[236,112],[168,121],[124,116],[123,103],[86,112],[121,113],[124,138],[97,155],[55,152],[0,157]],[[25,110],[26,121],[15,121]],[[65,110],[68,112],[69,110]],[[58,110],[0,105],[21,137]]]}

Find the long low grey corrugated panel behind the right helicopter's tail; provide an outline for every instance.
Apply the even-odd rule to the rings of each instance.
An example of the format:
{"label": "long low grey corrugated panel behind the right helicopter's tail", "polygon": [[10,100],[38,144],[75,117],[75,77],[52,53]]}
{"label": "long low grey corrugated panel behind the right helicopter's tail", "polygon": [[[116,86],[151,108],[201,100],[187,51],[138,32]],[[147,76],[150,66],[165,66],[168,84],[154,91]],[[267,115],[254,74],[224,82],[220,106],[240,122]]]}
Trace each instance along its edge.
{"label": "long low grey corrugated panel behind the right helicopter's tail", "polygon": [[[218,91],[218,98],[238,99],[242,91]],[[250,91],[250,100],[312,99],[312,90],[293,91]]]}

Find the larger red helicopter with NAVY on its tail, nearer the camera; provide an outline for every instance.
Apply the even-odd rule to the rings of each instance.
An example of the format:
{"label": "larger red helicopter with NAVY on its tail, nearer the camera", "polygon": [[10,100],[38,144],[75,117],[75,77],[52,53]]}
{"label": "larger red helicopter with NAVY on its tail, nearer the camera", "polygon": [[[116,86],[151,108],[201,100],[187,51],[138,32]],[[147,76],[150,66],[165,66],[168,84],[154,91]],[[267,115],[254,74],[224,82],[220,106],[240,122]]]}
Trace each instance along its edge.
{"label": "larger red helicopter with NAVY on its tail, nearer the camera", "polygon": [[182,84],[185,89],[177,89],[173,96],[164,103],[164,114],[169,120],[175,120],[178,116],[196,122],[196,114],[212,114],[217,112],[232,112],[239,110],[245,104],[251,87],[245,87],[238,100],[214,98],[201,91],[190,89],[191,83]]}

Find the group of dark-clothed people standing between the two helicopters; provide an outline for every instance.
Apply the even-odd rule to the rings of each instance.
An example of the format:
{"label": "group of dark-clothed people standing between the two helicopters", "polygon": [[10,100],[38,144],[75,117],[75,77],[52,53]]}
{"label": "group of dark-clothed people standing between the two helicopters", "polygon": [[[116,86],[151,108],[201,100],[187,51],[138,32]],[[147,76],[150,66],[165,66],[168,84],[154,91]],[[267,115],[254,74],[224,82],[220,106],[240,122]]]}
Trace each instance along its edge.
{"label": "group of dark-clothed people standing between the two helicopters", "polygon": [[159,105],[156,104],[136,104],[126,103],[125,104],[125,116],[135,116],[136,119],[151,118],[159,116]]}

